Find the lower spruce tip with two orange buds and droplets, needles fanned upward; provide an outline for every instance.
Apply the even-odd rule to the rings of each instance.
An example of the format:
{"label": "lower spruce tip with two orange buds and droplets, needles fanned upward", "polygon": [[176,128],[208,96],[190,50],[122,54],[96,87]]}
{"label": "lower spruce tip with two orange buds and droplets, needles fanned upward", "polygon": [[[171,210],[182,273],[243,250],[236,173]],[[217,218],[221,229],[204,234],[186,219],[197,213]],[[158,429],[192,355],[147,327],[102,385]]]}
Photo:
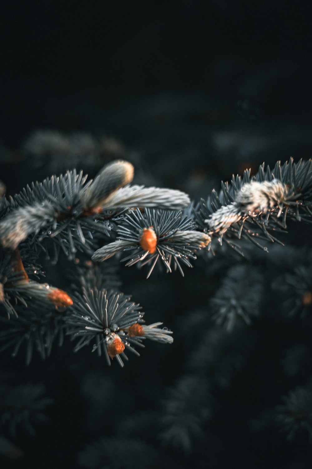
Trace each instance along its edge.
{"label": "lower spruce tip with two orange buds and droplets, needles fanned upward", "polygon": [[84,287],[82,292],[82,296],[74,296],[72,314],[65,318],[67,335],[80,338],[75,352],[95,340],[93,351],[97,350],[99,356],[103,351],[109,365],[116,357],[123,367],[122,359],[128,360],[124,350],[139,355],[131,344],[144,347],[142,340],[145,338],[165,343],[173,341],[171,331],[157,327],[162,323],[142,325],[141,307],[122,293]]}

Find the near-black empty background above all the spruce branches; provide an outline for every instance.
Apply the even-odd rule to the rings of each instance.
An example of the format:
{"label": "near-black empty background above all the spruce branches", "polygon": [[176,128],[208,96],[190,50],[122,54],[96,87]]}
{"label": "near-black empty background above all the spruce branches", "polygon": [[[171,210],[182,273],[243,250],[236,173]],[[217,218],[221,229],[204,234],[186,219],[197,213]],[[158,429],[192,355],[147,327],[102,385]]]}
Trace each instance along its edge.
{"label": "near-black empty background above all the spruce branches", "polygon": [[3,1],[1,23],[5,147],[38,128],[105,133],[151,167],[191,153],[226,179],[310,157],[307,2]]}

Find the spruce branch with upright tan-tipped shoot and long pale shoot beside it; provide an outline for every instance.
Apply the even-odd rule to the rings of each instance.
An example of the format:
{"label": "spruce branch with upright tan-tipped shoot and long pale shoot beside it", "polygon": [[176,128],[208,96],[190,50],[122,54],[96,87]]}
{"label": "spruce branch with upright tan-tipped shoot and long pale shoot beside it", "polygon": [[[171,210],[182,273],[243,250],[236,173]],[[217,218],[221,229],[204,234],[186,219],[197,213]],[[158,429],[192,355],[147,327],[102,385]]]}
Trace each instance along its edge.
{"label": "spruce branch with upright tan-tipped shoot and long pale shoot beside it", "polygon": [[136,205],[175,209],[189,204],[189,197],[178,190],[123,188],[132,178],[131,163],[119,160],[87,183],[87,176],[76,170],[32,183],[10,199],[9,213],[0,221],[2,246],[14,250],[31,235],[32,242],[54,241],[73,259],[77,250],[91,254],[94,236],[109,237],[113,228],[109,220],[116,209]]}

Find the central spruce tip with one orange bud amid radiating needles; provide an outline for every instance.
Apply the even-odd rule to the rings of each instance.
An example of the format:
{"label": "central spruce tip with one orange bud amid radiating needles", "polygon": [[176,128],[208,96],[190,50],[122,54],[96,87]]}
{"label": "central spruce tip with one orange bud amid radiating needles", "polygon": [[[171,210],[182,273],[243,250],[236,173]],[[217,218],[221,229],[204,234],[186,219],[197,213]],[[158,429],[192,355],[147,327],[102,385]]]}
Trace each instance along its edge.
{"label": "central spruce tip with one orange bud amid radiating needles", "polygon": [[[109,243],[94,252],[94,261],[104,261],[119,251],[131,250],[131,255],[123,258],[126,265],[150,264],[147,278],[160,259],[171,272],[171,264],[182,275],[180,262],[192,267],[189,258],[196,259],[195,250],[205,248],[210,236],[195,230],[193,219],[182,212],[160,209],[132,210],[127,213],[117,228],[117,241]],[[144,262],[142,262],[144,261]]]}

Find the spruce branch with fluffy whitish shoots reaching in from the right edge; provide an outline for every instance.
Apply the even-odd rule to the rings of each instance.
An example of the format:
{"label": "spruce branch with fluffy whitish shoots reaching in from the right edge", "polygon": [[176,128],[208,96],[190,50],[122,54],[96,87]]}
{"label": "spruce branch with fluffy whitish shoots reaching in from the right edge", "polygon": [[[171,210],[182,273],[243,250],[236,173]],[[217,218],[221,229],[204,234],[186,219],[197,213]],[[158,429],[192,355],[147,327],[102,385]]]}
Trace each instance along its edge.
{"label": "spruce branch with fluffy whitish shoots reaching in from the right edge", "polygon": [[290,159],[283,166],[278,161],[273,171],[269,166],[265,171],[263,163],[255,176],[245,171],[243,178],[233,175],[231,185],[222,182],[221,187],[219,195],[213,190],[207,203],[202,202],[196,215],[220,242],[224,238],[231,245],[231,238],[243,236],[267,250],[258,240],[279,242],[271,232],[283,231],[286,219],[311,222],[311,159],[298,163]]}

